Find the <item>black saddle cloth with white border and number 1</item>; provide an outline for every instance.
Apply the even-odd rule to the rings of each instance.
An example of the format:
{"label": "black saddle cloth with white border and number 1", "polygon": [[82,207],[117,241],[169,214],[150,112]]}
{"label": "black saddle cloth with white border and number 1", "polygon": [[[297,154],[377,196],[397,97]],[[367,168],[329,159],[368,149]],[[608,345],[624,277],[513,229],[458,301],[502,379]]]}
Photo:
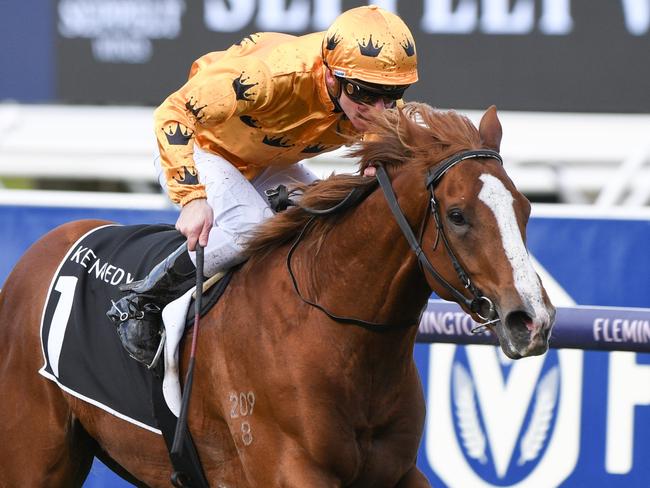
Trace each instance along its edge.
{"label": "black saddle cloth with white border and number 1", "polygon": [[169,225],[105,226],[77,241],[50,285],[40,373],[74,396],[159,431],[151,373],[122,348],[106,311],[124,296],[120,284],[143,278],[183,242]]}

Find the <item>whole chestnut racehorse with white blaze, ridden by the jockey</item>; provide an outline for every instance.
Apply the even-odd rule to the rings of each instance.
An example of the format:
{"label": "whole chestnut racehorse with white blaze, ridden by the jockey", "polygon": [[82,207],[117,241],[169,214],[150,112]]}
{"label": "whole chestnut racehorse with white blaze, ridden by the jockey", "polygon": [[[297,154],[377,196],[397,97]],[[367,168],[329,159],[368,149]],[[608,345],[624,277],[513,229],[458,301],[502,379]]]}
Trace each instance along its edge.
{"label": "whole chestnut racehorse with white blaze, ridden by the jockey", "polygon": [[[429,486],[416,467],[425,402],[413,348],[432,291],[487,321],[509,357],[547,350],[555,311],[525,247],[530,204],[498,155],[496,109],[478,130],[424,104],[370,118],[356,154],[362,170],[385,168],[389,188],[356,175],[306,188],[307,210],[260,226],[202,319],[188,423],[213,487]],[[350,208],[313,216],[355,188],[364,198]],[[37,373],[53,273],[102,223],[47,234],[0,295],[2,488],[80,486],[94,456],[138,485],[170,484],[160,435]]]}

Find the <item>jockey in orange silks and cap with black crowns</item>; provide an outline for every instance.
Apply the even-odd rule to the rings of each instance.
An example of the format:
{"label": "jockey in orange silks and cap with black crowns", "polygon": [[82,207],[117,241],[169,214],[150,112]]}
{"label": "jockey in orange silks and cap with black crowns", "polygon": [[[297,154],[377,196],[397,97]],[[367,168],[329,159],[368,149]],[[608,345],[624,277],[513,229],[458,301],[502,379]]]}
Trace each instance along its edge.
{"label": "jockey in orange silks and cap with black crowns", "polygon": [[159,263],[115,304],[135,359],[150,364],[160,310],[191,286],[195,248],[204,274],[242,260],[255,226],[273,215],[264,195],[313,182],[299,161],[360,139],[369,106],[391,108],[418,79],[415,41],[396,15],[371,5],[341,14],[327,32],[263,32],[194,62],[189,79],[155,111],[161,186],[180,205],[187,246]]}

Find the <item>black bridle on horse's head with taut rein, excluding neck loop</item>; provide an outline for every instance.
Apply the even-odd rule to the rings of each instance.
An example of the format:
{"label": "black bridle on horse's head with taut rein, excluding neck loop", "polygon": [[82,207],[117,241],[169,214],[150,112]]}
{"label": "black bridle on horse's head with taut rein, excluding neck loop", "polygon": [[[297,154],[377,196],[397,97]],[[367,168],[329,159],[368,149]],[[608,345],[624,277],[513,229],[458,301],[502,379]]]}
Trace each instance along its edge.
{"label": "black bridle on horse's head with taut rein, excluding neck loop", "polygon": [[[447,290],[458,303],[464,305],[468,310],[474,312],[478,317],[484,320],[483,324],[472,329],[472,332],[475,333],[484,330],[487,325],[498,321],[498,319],[495,318],[496,310],[494,308],[494,304],[492,303],[492,300],[490,300],[488,297],[483,295],[481,291],[472,283],[472,280],[470,279],[469,275],[462,267],[462,265],[458,261],[458,258],[456,257],[453,250],[451,249],[449,240],[447,239],[447,235],[445,234],[444,227],[442,226],[442,219],[440,218],[440,207],[438,204],[438,200],[436,199],[435,189],[438,183],[440,183],[440,180],[442,180],[442,177],[447,173],[447,171],[449,171],[449,169],[456,166],[458,163],[462,161],[465,161],[467,159],[476,159],[476,158],[496,159],[501,164],[503,164],[503,159],[501,159],[501,155],[496,151],[492,151],[490,149],[464,151],[455,154],[448,159],[445,159],[438,166],[436,166],[433,169],[430,169],[427,172],[427,178],[425,181],[426,188],[427,190],[429,190],[429,193],[431,194],[431,213],[433,214],[434,220],[436,222],[436,229],[438,231],[438,236],[442,237],[442,242],[445,245],[445,249],[447,250],[449,259],[451,260],[451,263],[454,266],[454,269],[456,270],[458,279],[463,284],[465,289],[469,290],[469,292],[472,294],[472,298],[467,298],[462,292],[457,290],[451,283],[445,280],[445,278],[440,273],[438,273],[436,269],[433,267],[433,265],[431,264],[427,256],[424,254],[420,241],[415,237],[415,234],[413,234],[413,230],[411,229],[411,226],[406,220],[406,217],[404,217],[404,214],[402,213],[402,209],[397,203],[397,197],[395,196],[395,192],[393,191],[393,187],[391,185],[390,179],[388,178],[388,174],[386,173],[386,170],[381,165],[377,166],[377,180],[379,181],[379,185],[381,186],[381,189],[384,192],[384,196],[386,197],[388,206],[390,207],[391,212],[393,212],[393,216],[395,217],[395,220],[400,226],[400,229],[402,230],[402,234],[404,234],[404,237],[408,241],[409,246],[411,247],[413,252],[415,252],[415,255],[418,258],[418,262],[420,263],[422,268],[425,270],[426,273],[429,273],[438,283],[440,283],[442,287],[445,288],[445,290]],[[487,307],[488,310],[487,313],[483,312],[483,306]]]}

